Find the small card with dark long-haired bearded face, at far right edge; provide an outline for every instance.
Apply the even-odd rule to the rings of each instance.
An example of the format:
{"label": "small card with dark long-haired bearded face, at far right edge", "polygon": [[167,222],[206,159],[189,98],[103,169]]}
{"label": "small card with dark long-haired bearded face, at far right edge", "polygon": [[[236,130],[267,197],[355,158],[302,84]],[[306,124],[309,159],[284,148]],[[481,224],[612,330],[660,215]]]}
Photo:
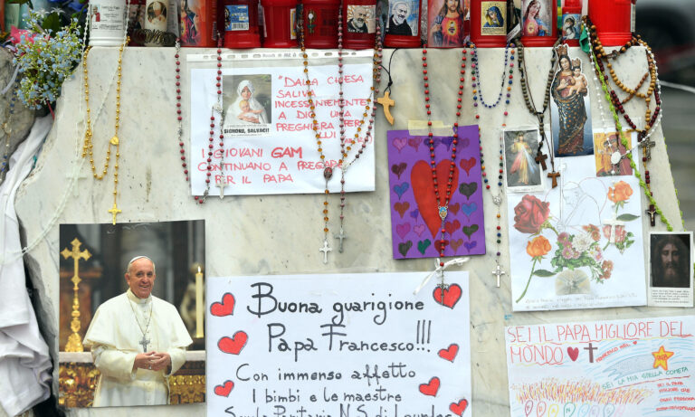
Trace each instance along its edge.
{"label": "small card with dark long-haired bearded face, at far right edge", "polygon": [[692,232],[651,232],[649,299],[654,307],[692,307]]}

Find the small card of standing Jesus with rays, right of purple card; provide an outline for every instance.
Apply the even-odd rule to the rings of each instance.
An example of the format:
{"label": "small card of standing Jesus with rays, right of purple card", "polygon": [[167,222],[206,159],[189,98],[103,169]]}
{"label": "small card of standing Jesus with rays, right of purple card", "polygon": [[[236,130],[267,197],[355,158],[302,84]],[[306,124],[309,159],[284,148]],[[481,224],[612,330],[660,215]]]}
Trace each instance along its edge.
{"label": "small card of standing Jesus with rays, right of purple card", "polygon": [[536,163],[538,128],[512,128],[504,135],[504,166],[507,189],[513,192],[541,191],[540,166]]}

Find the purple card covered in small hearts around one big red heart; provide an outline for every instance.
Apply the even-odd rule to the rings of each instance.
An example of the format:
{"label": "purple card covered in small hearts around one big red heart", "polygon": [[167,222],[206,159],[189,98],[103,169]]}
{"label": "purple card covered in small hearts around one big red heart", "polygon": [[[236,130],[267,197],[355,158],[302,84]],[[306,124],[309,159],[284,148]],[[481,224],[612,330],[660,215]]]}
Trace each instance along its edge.
{"label": "purple card covered in small hearts around one big red heart", "polygon": [[[435,258],[435,241],[441,239],[442,219],[434,196],[430,148],[426,136],[407,130],[390,130],[388,140],[389,196],[394,258]],[[434,137],[437,181],[446,195],[453,137]],[[478,126],[459,127],[452,198],[444,223],[444,256],[485,253],[482,210],[481,140]]]}

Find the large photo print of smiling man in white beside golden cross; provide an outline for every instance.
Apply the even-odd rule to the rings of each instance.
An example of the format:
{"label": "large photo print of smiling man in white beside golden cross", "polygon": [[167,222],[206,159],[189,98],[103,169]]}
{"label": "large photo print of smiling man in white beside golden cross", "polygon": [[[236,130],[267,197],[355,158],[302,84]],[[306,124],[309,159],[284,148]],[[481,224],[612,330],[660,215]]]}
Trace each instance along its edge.
{"label": "large photo print of smiling man in white beside golden cross", "polygon": [[205,403],[205,221],[61,224],[59,403]]}

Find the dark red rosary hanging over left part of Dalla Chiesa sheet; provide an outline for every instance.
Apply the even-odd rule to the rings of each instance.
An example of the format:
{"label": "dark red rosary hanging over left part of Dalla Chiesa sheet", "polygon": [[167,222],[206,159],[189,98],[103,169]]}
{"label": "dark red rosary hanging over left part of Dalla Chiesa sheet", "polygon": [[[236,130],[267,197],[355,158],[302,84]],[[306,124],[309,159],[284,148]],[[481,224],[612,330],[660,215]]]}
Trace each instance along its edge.
{"label": "dark red rosary hanging over left part of Dalla Chiesa sheet", "polygon": [[[181,154],[181,167],[184,171],[184,176],[186,178],[186,182],[189,181],[189,176],[188,176],[188,164],[186,163],[186,147],[183,139],[184,135],[184,127],[183,127],[183,116],[181,112],[181,61],[180,61],[180,52],[181,52],[181,43],[179,39],[176,39],[176,53],[174,54],[174,58],[176,59],[176,121],[178,123],[178,128],[176,130],[176,141],[178,142],[178,147],[179,147],[179,153]],[[215,118],[214,114],[219,113],[220,114],[220,178],[221,181],[220,183],[217,183],[216,186],[220,187],[220,198],[224,198],[224,185],[227,185],[227,182],[225,181],[224,178],[224,134],[223,134],[223,126],[224,126],[224,113],[222,111],[222,41],[220,36],[217,36],[217,75],[215,77],[215,82],[214,86],[217,89],[217,102],[214,104],[211,114],[210,114],[210,137],[208,137],[208,150],[207,150],[207,159],[206,159],[206,169],[205,169],[205,192],[203,195],[194,195],[194,199],[196,202],[199,204],[205,203],[205,200],[207,199],[207,196],[210,194],[210,177],[212,176],[212,169],[213,169],[213,149],[214,149],[214,126],[215,126]]]}

